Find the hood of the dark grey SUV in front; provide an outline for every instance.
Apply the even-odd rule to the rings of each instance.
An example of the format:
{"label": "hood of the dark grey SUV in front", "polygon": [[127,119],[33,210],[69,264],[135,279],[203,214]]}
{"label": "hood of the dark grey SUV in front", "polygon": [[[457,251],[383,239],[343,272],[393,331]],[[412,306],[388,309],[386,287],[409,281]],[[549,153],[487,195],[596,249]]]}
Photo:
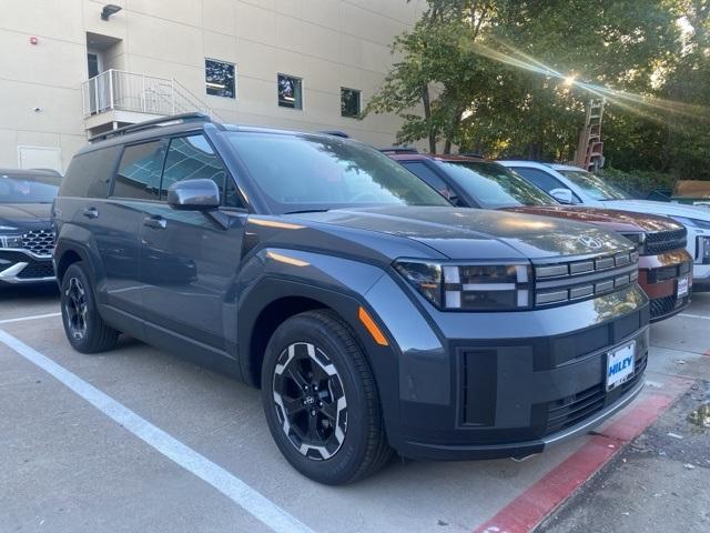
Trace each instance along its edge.
{"label": "hood of the dark grey SUV in front", "polygon": [[631,248],[626,239],[589,224],[481,209],[361,208],[287,218],[412,239],[450,259],[541,259]]}

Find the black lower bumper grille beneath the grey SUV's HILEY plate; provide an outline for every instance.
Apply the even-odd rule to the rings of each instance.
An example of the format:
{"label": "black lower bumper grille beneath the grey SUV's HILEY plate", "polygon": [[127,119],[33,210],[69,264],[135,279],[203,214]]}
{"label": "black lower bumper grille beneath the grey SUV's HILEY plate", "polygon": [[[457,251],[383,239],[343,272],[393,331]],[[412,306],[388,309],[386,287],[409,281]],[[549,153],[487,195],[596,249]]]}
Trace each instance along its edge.
{"label": "black lower bumper grille beneath the grey SUV's HILEY plate", "polygon": [[571,428],[595,412],[601,411],[608,401],[612,402],[618,399],[619,395],[623,395],[641,379],[647,362],[648,356],[646,354],[637,359],[633,376],[617,389],[609,391],[609,393],[605,391],[604,382],[600,382],[571,396],[549,402],[547,430],[545,434],[551,435],[552,433]]}

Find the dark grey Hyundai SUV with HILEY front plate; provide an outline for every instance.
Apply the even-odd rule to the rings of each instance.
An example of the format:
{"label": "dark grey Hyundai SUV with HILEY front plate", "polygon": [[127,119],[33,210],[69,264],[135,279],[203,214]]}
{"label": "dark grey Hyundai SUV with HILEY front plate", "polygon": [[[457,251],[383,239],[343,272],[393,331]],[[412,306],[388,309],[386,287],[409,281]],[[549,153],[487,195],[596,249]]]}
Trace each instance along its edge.
{"label": "dark grey Hyundai SUV with HILEY front plate", "polygon": [[392,449],[526,456],[641,390],[649,305],[626,239],[455,208],[339,137],[158,125],[95,140],[67,172],[67,335],[98,352],[124,332],[261,386],[303,474],[351,482]]}

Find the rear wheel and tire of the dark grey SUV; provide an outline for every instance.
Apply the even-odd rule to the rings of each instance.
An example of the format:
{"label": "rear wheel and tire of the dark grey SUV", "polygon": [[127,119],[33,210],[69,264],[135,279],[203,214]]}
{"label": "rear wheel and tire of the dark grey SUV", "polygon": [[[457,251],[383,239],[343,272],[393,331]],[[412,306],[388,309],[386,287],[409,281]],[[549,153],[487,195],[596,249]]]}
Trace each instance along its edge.
{"label": "rear wheel and tire of the dark grey SUV", "polygon": [[105,352],[115,346],[119,332],[108,325],[97,308],[91,281],[81,262],[67,269],[61,285],[64,333],[81,353]]}

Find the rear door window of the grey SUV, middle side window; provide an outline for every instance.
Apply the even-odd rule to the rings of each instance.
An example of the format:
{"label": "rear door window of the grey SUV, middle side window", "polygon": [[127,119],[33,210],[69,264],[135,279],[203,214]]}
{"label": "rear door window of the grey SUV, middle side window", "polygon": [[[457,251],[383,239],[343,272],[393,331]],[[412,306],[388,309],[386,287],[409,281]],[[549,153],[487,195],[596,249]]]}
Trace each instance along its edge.
{"label": "rear door window of the grey SUV, middle side window", "polygon": [[158,200],[163,155],[161,141],[125,147],[111,195]]}

